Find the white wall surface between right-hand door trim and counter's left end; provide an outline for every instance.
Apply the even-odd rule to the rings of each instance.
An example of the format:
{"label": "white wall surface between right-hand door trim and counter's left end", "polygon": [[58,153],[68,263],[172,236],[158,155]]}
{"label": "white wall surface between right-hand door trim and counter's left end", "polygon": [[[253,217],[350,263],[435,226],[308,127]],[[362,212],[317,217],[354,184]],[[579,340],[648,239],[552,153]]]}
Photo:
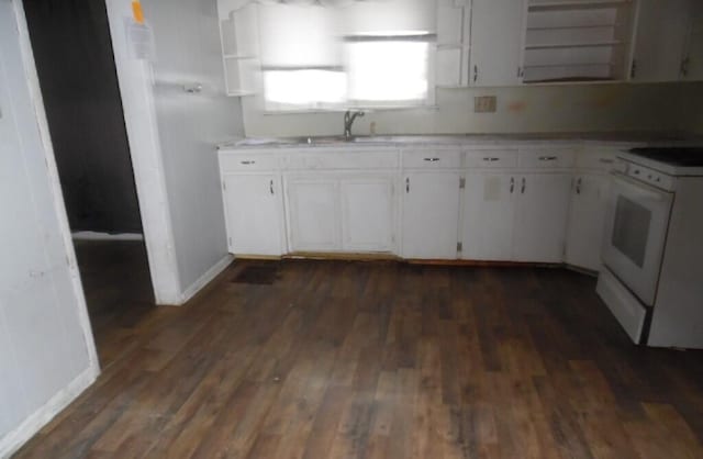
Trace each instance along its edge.
{"label": "white wall surface between right-hand door trim and counter's left end", "polygon": [[[156,37],[155,101],[181,288],[227,254],[215,145],[243,134],[237,99],[224,96],[214,0],[146,0]],[[187,93],[183,83],[200,83]]]}

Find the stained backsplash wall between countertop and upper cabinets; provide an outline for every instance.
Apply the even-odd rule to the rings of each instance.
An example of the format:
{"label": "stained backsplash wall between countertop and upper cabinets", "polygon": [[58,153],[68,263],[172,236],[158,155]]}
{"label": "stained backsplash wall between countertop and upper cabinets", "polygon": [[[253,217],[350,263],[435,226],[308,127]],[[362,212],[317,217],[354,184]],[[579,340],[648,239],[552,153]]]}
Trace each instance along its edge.
{"label": "stained backsplash wall between countertop and upper cabinets", "polygon": [[[672,132],[680,103],[703,83],[595,83],[437,90],[436,109],[368,113],[354,126],[369,134]],[[473,97],[496,96],[495,113],[475,113]],[[244,99],[247,136],[342,134],[341,113],[265,114],[259,97]]]}

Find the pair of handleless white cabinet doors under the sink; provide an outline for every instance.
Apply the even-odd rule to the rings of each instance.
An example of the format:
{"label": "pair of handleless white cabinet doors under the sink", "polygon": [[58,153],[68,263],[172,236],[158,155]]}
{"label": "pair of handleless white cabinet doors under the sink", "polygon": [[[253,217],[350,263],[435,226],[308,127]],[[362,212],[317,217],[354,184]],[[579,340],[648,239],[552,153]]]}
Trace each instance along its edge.
{"label": "pair of handleless white cabinet doors under the sink", "polygon": [[394,250],[393,176],[287,180],[292,251]]}

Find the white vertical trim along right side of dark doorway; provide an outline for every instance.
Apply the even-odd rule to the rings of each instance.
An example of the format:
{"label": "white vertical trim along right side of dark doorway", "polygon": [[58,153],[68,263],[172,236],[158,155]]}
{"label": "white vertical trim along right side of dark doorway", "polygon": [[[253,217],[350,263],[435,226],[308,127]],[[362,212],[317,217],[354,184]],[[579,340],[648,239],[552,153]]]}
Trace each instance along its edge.
{"label": "white vertical trim along right side of dark doorway", "polygon": [[130,143],[144,242],[157,304],[180,304],[181,280],[175,251],[150,64],[131,57],[126,21],[131,0],[105,0],[118,82]]}

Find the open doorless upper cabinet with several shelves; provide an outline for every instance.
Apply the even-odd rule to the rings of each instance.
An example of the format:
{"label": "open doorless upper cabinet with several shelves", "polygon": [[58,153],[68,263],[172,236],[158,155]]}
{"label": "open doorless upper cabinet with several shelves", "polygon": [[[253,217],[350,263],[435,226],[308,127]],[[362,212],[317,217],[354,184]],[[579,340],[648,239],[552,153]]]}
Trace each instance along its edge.
{"label": "open doorless upper cabinet with several shelves", "polygon": [[523,81],[625,79],[633,7],[629,0],[529,0]]}

